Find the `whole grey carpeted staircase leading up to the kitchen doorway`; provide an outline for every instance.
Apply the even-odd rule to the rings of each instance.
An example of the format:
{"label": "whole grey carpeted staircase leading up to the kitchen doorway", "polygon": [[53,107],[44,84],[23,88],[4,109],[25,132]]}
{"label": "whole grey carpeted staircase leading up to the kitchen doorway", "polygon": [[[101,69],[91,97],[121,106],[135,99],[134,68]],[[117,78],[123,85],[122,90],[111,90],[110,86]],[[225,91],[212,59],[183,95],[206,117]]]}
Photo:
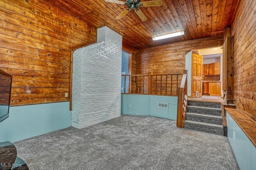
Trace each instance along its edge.
{"label": "whole grey carpeted staircase leading up to the kitchen doorway", "polygon": [[188,101],[184,128],[223,136],[220,103]]}

